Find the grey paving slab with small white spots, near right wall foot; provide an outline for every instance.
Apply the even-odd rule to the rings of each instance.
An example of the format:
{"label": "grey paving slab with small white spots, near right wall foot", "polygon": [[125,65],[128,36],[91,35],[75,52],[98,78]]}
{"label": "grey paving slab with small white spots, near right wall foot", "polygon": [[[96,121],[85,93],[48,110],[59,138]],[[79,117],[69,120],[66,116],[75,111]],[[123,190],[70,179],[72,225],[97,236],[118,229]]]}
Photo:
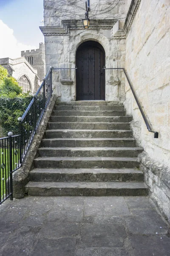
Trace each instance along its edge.
{"label": "grey paving slab with small white spots, near right wall foot", "polygon": [[137,210],[133,215],[125,216],[127,228],[132,235],[166,234],[168,226],[154,209]]}

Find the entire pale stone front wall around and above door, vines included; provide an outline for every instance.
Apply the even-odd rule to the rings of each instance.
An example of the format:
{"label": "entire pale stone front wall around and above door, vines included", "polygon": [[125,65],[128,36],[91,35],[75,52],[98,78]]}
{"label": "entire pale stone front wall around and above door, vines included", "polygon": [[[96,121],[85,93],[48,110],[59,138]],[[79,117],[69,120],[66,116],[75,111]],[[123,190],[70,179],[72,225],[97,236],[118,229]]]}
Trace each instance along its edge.
{"label": "entire pale stone front wall around and above door, vines included", "polygon": [[[76,12],[75,12],[76,10]],[[74,68],[76,51],[84,41],[97,41],[105,49],[106,67],[125,66],[125,39],[114,39],[113,25],[119,20],[119,27],[126,17],[125,0],[90,1],[89,29],[82,26],[85,1],[81,0],[44,0],[45,64],[46,72],[54,68]],[[97,20],[96,20],[97,19]],[[125,99],[125,78],[121,71],[105,71],[105,99]],[[63,76],[64,74],[64,76]],[[67,78],[67,79],[66,79]],[[68,80],[68,82],[66,81]],[[64,83],[63,83],[64,81]],[[76,72],[56,71],[54,87],[61,101],[76,99]]]}

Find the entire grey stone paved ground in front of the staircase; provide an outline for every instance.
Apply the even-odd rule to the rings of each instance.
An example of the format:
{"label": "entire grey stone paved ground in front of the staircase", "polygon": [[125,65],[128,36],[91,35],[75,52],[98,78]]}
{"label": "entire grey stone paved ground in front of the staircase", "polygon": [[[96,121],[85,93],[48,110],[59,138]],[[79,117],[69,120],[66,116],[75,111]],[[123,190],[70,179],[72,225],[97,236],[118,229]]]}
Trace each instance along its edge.
{"label": "entire grey stone paved ground in front of the staircase", "polygon": [[147,197],[26,197],[0,206],[0,256],[170,256]]}

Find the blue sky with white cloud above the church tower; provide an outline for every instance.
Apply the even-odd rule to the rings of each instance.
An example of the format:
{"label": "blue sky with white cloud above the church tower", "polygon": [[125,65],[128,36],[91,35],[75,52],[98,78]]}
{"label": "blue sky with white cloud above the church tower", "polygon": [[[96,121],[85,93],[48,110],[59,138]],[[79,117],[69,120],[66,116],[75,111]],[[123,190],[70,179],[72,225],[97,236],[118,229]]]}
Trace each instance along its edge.
{"label": "blue sky with white cloud above the church tower", "polygon": [[19,58],[43,40],[43,0],[0,0],[0,58]]}

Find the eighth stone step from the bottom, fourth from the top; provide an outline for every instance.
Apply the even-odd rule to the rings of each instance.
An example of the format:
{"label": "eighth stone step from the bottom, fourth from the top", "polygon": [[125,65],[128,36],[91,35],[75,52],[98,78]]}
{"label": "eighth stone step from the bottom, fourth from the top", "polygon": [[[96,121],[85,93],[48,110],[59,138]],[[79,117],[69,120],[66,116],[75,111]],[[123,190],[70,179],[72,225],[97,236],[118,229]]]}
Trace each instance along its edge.
{"label": "eighth stone step from the bottom, fourth from the top", "polygon": [[51,116],[50,122],[131,122],[132,116]]}

